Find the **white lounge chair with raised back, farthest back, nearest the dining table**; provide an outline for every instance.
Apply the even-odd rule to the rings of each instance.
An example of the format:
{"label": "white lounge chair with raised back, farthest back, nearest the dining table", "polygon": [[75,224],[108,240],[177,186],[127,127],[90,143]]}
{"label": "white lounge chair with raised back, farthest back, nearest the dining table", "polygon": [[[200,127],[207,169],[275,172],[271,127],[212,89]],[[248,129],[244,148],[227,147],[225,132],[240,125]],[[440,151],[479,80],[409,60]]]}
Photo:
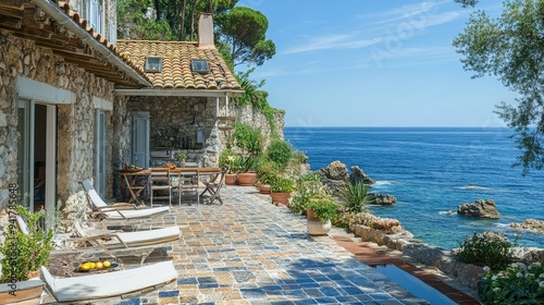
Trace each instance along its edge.
{"label": "white lounge chair with raised back, farthest back, nearest the dining table", "polygon": [[98,210],[99,216],[107,220],[114,221],[128,221],[128,220],[143,220],[157,217],[164,212],[170,211],[170,207],[156,207],[156,208],[143,208],[138,209],[132,204],[106,204],[102,198],[98,195],[97,191],[92,186],[92,183],[88,179],[83,181],[83,187],[87,192],[88,197],[92,207]]}

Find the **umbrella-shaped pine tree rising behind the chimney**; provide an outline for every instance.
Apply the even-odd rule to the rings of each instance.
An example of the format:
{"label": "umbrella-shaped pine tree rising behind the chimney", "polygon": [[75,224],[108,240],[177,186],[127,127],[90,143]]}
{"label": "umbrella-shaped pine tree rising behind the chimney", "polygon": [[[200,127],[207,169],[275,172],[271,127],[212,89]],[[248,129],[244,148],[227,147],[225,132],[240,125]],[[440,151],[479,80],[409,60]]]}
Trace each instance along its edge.
{"label": "umbrella-shaped pine tree rising behind the chimney", "polygon": [[275,54],[274,42],[265,40],[269,22],[261,12],[235,7],[219,15],[217,22],[234,66],[242,63],[262,65]]}

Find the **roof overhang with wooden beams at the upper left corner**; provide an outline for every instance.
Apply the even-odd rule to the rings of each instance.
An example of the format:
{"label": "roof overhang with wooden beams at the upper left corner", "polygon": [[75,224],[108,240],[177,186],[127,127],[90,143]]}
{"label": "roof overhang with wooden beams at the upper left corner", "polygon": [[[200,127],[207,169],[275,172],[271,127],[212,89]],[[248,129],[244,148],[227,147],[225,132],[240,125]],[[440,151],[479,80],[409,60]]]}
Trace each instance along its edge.
{"label": "roof overhang with wooden beams at the upper left corner", "polygon": [[[9,1],[8,4],[0,3],[0,29],[10,30],[16,37],[34,40],[37,46],[51,49],[53,54],[64,58],[66,62],[118,85],[140,87],[143,81],[149,83],[145,78],[143,69],[120,57],[115,47],[100,34],[95,33],[92,27],[88,27],[87,21],[72,11],[67,2],[59,1],[58,4],[49,3],[47,0],[35,2],[38,7],[27,5],[23,0]],[[64,30],[63,26],[52,22],[53,16],[41,13],[41,9],[45,8],[49,9],[49,12],[60,13],[59,15],[65,19],[58,21],[60,24],[72,23],[74,25],[72,29],[79,30],[81,35],[86,37]],[[87,46],[98,49],[90,51]]]}

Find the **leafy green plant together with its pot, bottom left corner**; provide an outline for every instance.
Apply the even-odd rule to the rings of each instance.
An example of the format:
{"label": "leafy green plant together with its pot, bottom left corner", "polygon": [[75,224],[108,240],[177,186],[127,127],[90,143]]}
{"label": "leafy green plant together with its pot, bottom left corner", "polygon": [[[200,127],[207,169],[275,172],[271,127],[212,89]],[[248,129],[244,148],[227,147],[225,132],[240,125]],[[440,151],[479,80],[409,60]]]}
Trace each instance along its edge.
{"label": "leafy green plant together with its pot, bottom left corner", "polygon": [[32,213],[20,205],[13,206],[26,221],[28,232],[22,232],[14,219],[5,228],[5,242],[0,245],[3,256],[0,304],[39,304],[44,283],[30,279],[38,276],[40,266],[48,266],[53,230],[40,228],[44,210]]}

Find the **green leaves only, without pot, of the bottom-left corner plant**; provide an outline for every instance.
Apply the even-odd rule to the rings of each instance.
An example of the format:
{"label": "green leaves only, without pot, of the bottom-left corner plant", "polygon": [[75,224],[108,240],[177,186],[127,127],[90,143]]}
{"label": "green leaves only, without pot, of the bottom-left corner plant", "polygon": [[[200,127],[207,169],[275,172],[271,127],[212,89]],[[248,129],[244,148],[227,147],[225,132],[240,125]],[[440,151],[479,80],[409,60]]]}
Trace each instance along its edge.
{"label": "green leaves only, without pot, of the bottom-left corner plant", "polygon": [[23,234],[16,225],[7,227],[5,242],[0,245],[0,253],[3,255],[2,282],[9,282],[12,277],[17,281],[25,281],[29,271],[48,266],[53,246],[53,230],[45,231],[40,227],[40,220],[46,216],[44,210],[32,213],[17,205],[16,211],[26,220],[29,232]]}

